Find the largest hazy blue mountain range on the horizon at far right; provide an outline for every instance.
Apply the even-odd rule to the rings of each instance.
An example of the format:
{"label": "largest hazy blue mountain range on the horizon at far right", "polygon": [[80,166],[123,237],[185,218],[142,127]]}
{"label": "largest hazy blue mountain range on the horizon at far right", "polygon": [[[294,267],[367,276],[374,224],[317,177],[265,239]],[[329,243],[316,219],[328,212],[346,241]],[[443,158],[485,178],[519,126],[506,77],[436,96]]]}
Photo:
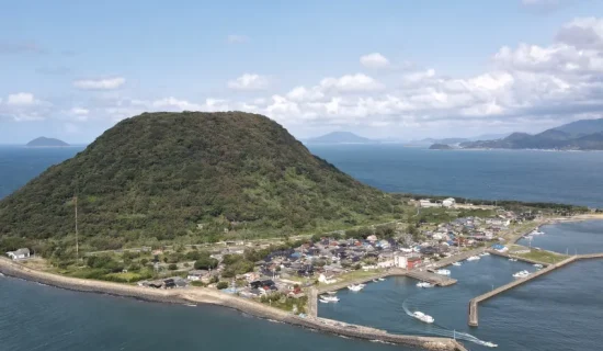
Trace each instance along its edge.
{"label": "largest hazy blue mountain range on the horizon at far right", "polygon": [[513,133],[496,140],[460,143],[466,149],[603,150],[603,118],[580,120],[538,134]]}

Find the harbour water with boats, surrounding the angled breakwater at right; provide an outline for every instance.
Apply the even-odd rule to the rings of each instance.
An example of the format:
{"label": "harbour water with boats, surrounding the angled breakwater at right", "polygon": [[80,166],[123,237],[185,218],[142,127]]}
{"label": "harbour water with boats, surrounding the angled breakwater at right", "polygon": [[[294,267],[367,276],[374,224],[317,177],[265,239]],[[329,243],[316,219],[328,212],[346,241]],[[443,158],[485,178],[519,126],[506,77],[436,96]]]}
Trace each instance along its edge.
{"label": "harbour water with boats, surrounding the angled breakwater at right", "polygon": [[[547,247],[548,239],[557,245],[562,238],[565,245],[592,239],[594,251],[603,251],[602,222],[543,229],[547,233],[538,237],[543,248]],[[416,280],[389,279],[371,283],[360,293],[341,291],[338,304],[320,304],[319,316],[364,322],[392,332],[456,335],[471,350],[488,349],[473,342],[479,340],[498,343],[497,350],[504,351],[601,350],[603,260],[570,264],[487,301],[479,308],[478,328],[467,326],[469,299],[512,281],[512,274],[517,271],[535,271],[535,268],[489,256],[447,269],[451,276],[458,280],[450,287],[421,290],[416,286]],[[408,316],[405,307],[410,313],[421,310],[431,315],[435,324],[425,325]]]}

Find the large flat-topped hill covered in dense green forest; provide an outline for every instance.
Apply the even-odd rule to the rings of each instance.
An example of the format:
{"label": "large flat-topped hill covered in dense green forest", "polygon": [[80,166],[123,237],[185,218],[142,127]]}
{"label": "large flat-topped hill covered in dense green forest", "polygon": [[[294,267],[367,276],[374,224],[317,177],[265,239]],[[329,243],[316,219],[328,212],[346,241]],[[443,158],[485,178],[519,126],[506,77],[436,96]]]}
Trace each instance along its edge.
{"label": "large flat-topped hill covered in dense green forest", "polygon": [[21,237],[72,237],[76,191],[80,237],[96,249],[149,238],[194,241],[229,230],[331,229],[400,210],[268,117],[145,113],[1,201],[4,247]]}

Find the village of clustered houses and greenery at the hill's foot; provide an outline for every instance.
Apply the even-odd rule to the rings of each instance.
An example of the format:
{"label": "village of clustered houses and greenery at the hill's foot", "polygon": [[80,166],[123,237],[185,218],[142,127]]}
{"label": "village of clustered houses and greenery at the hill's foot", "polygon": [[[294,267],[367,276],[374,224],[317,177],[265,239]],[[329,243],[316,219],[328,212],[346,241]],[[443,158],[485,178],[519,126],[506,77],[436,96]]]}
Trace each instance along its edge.
{"label": "village of clustered houses and greenery at the hill's foot", "polygon": [[[437,215],[436,210],[458,211],[454,199],[441,203],[421,200],[413,205],[418,213],[432,217]],[[304,314],[310,287],[346,286],[348,282],[392,269],[423,270],[479,247],[493,246],[502,251],[507,249],[510,228],[534,219],[531,214],[502,208],[479,211],[489,216],[457,217],[444,223],[394,222],[277,245],[235,240],[209,247],[141,247],[91,253],[84,260],[84,269],[60,273],[148,288],[205,286]],[[26,260],[30,251],[24,248],[8,256]]]}

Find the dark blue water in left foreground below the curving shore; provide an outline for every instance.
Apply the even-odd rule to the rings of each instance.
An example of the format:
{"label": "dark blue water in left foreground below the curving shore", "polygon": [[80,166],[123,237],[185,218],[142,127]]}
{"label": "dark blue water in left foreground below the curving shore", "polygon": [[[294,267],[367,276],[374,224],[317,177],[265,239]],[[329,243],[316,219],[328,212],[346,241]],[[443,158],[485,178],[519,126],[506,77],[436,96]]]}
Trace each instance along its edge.
{"label": "dark blue water in left foreground below the curving shore", "polygon": [[162,305],[0,278],[0,350],[410,350],[227,308]]}

